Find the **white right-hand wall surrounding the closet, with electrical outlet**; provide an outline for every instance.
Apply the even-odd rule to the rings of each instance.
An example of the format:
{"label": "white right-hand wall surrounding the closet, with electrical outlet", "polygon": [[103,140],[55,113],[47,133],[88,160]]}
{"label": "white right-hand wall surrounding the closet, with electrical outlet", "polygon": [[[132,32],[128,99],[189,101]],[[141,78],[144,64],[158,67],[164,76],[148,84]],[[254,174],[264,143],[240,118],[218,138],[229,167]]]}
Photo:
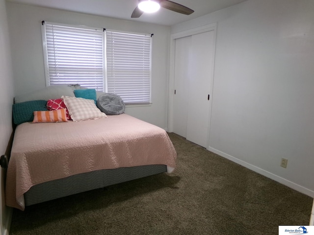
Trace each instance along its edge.
{"label": "white right-hand wall surrounding the closet, with electrical outlet", "polygon": [[171,34],[214,22],[209,150],[314,197],[314,1],[247,0]]}

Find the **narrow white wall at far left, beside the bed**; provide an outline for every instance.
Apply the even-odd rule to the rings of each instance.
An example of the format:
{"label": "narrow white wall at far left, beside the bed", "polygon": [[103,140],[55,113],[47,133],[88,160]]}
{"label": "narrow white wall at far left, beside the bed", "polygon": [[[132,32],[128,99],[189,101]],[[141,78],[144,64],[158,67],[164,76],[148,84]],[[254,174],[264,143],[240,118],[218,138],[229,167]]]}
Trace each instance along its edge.
{"label": "narrow white wall at far left, beside the bed", "polygon": [[[14,97],[12,61],[10,54],[10,41],[8,35],[7,13],[5,1],[0,0],[0,155],[6,152],[12,133],[12,104]],[[0,235],[8,234],[12,210],[5,206],[4,175],[1,168],[0,175]]]}

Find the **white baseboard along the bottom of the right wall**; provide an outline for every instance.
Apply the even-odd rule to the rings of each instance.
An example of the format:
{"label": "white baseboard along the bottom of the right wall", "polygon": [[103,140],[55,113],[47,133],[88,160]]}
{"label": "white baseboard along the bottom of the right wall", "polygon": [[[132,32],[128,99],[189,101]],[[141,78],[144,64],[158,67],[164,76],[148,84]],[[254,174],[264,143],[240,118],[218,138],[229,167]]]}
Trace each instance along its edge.
{"label": "white baseboard along the bottom of the right wall", "polygon": [[219,151],[217,149],[214,149],[212,147],[208,147],[207,150],[209,150],[209,151],[211,151],[213,153],[216,153],[216,154],[218,154],[218,155],[220,155],[220,156],[222,156],[222,157],[224,157],[226,159],[229,159],[232,162],[240,164],[240,165],[242,165],[242,166],[244,166],[244,167],[246,167],[246,168],[248,168],[250,170],[253,170],[253,171],[255,171],[255,172],[257,172],[257,173],[259,173],[259,174],[261,174],[263,176],[266,176],[267,178],[270,178],[270,179],[272,179],[274,181],[277,181],[277,182],[279,182],[279,183],[281,183],[281,184],[283,184],[285,186],[288,186],[289,188],[292,188],[292,189],[294,189],[294,190],[296,190],[298,192],[304,193],[304,194],[314,198],[314,191],[313,190],[310,190],[308,188],[304,188],[304,187],[302,187],[300,185],[297,185],[297,184],[295,184],[295,183],[293,183],[291,181],[288,181],[287,179],[284,179],[284,178],[282,178],[282,177],[280,177],[278,175],[275,175],[275,174],[270,173],[270,172],[268,172],[266,170],[263,170],[262,168],[259,168],[259,167],[255,166],[255,165],[246,163],[246,162],[244,162],[242,160],[239,160],[239,159],[237,159],[237,158],[235,158],[235,157],[233,157],[233,156],[231,156],[229,154],[221,152],[221,151]]}

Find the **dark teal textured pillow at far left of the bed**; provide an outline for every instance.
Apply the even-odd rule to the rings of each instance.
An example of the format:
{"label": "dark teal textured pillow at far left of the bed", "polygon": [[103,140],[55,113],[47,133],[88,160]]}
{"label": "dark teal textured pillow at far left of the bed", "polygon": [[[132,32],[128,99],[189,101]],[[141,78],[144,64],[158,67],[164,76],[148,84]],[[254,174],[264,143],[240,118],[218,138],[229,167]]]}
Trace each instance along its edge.
{"label": "dark teal textured pillow at far left of the bed", "polygon": [[34,119],[34,111],[47,111],[46,100],[32,100],[13,104],[13,123],[16,125]]}

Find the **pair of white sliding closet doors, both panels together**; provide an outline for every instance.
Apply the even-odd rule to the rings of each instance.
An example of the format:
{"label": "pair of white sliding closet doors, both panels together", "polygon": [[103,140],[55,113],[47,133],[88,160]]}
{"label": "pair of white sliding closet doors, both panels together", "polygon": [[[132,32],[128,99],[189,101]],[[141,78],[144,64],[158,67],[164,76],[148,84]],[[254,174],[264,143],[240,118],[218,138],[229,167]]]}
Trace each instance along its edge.
{"label": "pair of white sliding closet doors, both panels together", "polygon": [[[181,47],[182,51],[179,51],[177,43],[182,44],[182,40],[186,44]],[[178,118],[173,120],[174,132],[182,135],[177,132],[175,123],[182,122],[180,126],[185,123],[185,135],[182,136],[206,148],[209,144],[213,53],[214,31],[176,39],[175,67],[178,66],[178,68],[175,68],[174,106],[180,103],[179,109],[183,117],[178,114],[179,106],[174,108],[174,118]],[[184,94],[179,96],[181,87],[185,90],[182,91]]]}

